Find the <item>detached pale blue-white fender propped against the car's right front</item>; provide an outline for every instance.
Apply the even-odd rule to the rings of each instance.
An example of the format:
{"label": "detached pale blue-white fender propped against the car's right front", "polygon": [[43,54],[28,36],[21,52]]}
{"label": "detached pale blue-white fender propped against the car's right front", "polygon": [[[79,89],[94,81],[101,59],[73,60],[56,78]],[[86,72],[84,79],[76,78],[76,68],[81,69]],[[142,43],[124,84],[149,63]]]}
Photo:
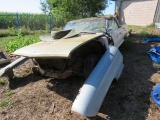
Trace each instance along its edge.
{"label": "detached pale blue-white fender propped against the car's right front", "polygon": [[114,78],[119,78],[123,70],[123,56],[114,46],[109,46],[98,62],[79,94],[72,111],[83,116],[96,116]]}

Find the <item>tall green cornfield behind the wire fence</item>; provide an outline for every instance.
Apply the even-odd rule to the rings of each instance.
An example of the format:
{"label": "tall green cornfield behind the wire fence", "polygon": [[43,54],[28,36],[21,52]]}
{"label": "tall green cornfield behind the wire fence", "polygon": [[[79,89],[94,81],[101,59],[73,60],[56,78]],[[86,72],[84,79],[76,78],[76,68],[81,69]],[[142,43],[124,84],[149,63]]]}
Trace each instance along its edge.
{"label": "tall green cornfield behind the wire fence", "polygon": [[[20,26],[30,30],[46,30],[46,23],[49,24],[50,16],[45,14],[28,14],[19,13],[18,18]],[[53,27],[62,27],[64,25],[63,20],[55,21],[51,17]],[[0,29],[17,29],[16,13],[4,13],[0,12]]]}

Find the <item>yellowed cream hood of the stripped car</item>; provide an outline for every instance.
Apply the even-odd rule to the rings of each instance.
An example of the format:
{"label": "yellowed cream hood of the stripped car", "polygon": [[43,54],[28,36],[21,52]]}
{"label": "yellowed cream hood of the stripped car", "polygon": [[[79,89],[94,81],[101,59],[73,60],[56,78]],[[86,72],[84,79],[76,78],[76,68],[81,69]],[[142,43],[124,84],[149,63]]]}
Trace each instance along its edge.
{"label": "yellowed cream hood of the stripped car", "polygon": [[85,34],[56,41],[41,41],[16,50],[13,54],[31,58],[69,57],[72,50],[102,34]]}

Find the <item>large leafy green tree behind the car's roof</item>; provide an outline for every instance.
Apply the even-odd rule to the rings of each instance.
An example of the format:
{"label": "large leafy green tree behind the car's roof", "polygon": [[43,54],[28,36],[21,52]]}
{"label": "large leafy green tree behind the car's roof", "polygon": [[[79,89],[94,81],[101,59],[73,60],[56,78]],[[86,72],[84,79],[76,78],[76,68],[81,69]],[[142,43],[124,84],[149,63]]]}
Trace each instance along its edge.
{"label": "large leafy green tree behind the car's roof", "polygon": [[106,8],[107,3],[108,0],[46,0],[50,14],[65,21],[94,17]]}

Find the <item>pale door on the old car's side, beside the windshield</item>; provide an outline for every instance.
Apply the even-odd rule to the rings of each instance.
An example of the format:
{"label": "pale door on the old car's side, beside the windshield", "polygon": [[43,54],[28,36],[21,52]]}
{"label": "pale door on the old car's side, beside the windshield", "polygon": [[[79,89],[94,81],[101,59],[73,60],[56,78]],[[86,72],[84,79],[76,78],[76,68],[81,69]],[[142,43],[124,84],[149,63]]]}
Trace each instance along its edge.
{"label": "pale door on the old car's side, beside the windshield", "polygon": [[107,32],[112,36],[114,46],[119,47],[124,41],[123,29],[118,26],[114,19],[108,20],[107,24]]}

